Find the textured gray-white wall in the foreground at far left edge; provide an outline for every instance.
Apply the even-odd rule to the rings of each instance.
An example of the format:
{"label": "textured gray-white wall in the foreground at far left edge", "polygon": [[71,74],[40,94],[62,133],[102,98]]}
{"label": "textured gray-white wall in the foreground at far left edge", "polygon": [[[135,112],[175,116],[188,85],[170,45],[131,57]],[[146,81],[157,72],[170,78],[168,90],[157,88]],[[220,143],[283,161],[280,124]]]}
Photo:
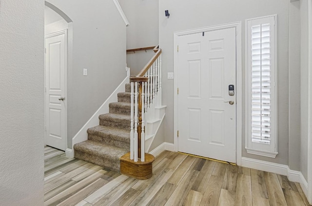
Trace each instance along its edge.
{"label": "textured gray-white wall in the foreground at far left edge", "polygon": [[43,205],[44,2],[0,1],[0,205]]}

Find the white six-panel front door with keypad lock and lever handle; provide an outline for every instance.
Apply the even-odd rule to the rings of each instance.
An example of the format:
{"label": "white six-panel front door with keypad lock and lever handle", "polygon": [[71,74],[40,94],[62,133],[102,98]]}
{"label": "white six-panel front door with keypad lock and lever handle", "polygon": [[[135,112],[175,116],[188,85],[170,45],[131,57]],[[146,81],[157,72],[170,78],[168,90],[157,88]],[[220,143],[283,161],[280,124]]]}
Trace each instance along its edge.
{"label": "white six-panel front door with keypad lock and lever handle", "polygon": [[180,152],[236,163],[235,36],[227,28],[177,39]]}

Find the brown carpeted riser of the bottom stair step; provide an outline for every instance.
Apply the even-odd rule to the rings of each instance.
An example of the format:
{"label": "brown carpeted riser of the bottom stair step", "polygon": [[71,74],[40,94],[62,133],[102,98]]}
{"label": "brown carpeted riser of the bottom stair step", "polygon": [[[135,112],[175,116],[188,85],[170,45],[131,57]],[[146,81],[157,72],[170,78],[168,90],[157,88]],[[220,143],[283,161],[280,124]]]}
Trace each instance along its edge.
{"label": "brown carpeted riser of the bottom stair step", "polygon": [[75,158],[99,165],[104,168],[111,169],[116,172],[120,172],[119,160],[106,159],[97,155],[80,152],[79,150],[75,150]]}

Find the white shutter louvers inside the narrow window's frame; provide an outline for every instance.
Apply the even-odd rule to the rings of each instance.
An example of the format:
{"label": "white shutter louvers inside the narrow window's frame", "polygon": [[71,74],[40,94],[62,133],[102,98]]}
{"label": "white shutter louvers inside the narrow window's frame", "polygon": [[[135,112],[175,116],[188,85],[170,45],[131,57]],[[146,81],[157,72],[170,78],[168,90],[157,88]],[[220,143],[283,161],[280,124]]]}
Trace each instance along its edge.
{"label": "white shutter louvers inside the narrow window's frame", "polygon": [[270,24],[252,26],[252,141],[270,144]]}

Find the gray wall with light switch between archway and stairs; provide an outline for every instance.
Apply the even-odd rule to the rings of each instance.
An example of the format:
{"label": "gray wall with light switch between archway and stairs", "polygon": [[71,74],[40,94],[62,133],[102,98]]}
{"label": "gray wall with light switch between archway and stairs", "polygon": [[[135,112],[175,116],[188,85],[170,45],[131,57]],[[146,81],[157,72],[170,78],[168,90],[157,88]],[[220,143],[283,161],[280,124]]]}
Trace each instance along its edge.
{"label": "gray wall with light switch between archway and stairs", "polygon": [[[125,78],[126,26],[113,0],[47,0],[73,25],[67,73],[67,139],[72,138]],[[82,69],[88,69],[88,76]]]}

